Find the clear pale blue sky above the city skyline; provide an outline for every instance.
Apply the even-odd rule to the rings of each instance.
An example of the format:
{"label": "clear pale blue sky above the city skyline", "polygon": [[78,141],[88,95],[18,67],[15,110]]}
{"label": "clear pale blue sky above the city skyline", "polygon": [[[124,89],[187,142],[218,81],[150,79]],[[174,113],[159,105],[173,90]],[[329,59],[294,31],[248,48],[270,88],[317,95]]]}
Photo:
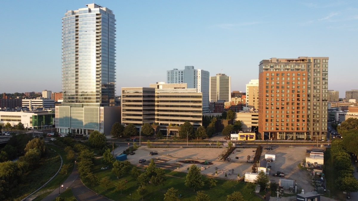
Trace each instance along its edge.
{"label": "clear pale blue sky above the city skyline", "polygon": [[[66,10],[93,1],[3,1],[0,93],[62,91]],[[245,92],[263,59],[329,57],[328,89],[358,89],[358,1],[94,1],[117,20],[117,92],[165,82],[166,70],[231,76]]]}

